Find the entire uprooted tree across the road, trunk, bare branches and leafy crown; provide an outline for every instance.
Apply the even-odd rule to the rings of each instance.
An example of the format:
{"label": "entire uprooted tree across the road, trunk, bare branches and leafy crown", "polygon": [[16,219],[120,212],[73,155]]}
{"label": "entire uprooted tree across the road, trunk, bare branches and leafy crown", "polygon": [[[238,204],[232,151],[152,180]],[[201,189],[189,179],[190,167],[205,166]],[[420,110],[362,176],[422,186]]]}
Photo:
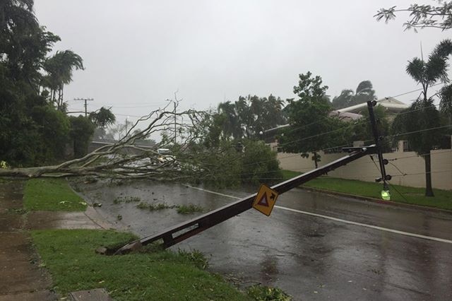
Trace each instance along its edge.
{"label": "entire uprooted tree across the road, trunk, bare branches and leafy crown", "polygon": [[[206,131],[211,131],[208,124],[212,116],[210,112],[195,110],[175,113],[164,107],[138,119],[117,143],[97,148],[82,158],[59,165],[0,168],[0,177],[93,176],[215,182],[223,186],[239,184],[242,179],[260,181],[263,178],[265,182],[278,180],[280,174],[276,155],[265,143],[246,143],[248,151],[237,151],[232,141],[224,141],[217,146],[206,143]],[[143,128],[144,124],[143,130],[137,130],[138,126]],[[178,143],[174,143],[174,129],[178,132]],[[153,146],[139,143],[148,136],[159,134],[162,139]],[[162,154],[162,148],[168,148],[171,153]],[[255,163],[250,164],[249,158],[256,159],[257,153],[265,160],[257,158]],[[271,181],[273,178],[275,181]]]}

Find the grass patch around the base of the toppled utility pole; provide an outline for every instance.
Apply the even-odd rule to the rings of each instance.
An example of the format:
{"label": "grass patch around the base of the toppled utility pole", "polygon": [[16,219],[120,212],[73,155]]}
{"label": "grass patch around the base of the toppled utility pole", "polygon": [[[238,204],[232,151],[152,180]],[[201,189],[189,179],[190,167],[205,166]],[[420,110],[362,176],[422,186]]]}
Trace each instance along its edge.
{"label": "grass patch around the base of the toppled utility pole", "polygon": [[[65,297],[74,290],[106,288],[114,300],[251,300],[229,283],[197,268],[184,253],[159,251],[105,256],[100,246],[123,245],[136,238],[109,230],[40,230],[32,238],[54,289]],[[196,257],[196,256],[195,256]]]}

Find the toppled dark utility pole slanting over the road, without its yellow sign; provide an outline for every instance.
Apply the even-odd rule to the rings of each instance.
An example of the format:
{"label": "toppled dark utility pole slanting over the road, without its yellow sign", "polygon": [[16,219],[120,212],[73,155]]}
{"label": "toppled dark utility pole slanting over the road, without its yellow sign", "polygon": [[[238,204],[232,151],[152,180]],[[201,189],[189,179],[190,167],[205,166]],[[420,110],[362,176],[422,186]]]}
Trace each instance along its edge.
{"label": "toppled dark utility pole slanting over the road, without its yellow sign", "polygon": [[[309,172],[305,172],[303,175],[299,175],[292,179],[288,179],[285,182],[281,182],[279,184],[275,184],[272,189],[278,192],[278,194],[283,194],[290,189],[293,189],[300,184],[308,182],[311,179],[319,177],[321,175],[325,175],[327,172],[331,172],[338,167],[343,165],[347,165],[354,160],[364,157],[365,155],[369,155],[371,153],[376,153],[376,146],[363,146],[359,148],[347,148],[346,151],[351,151],[348,155],[345,155],[343,158],[339,158],[331,163],[323,165],[321,167],[316,168],[315,170],[311,170]],[[136,240],[129,244],[126,244],[121,249],[117,250],[115,254],[124,254],[126,252],[130,252],[131,249],[138,245],[150,244],[152,242],[156,242],[157,240],[163,240],[162,247],[167,248],[171,247],[178,242],[182,242],[187,238],[202,232],[214,225],[218,225],[229,218],[237,216],[244,211],[252,208],[252,204],[254,199],[256,198],[256,194],[251,194],[246,196],[244,199],[240,199],[239,201],[235,201],[233,203],[222,206],[218,209],[210,211],[209,213],[203,214],[202,216],[198,216],[192,220],[188,220],[184,223],[180,223],[179,225],[175,225],[172,228],[167,228],[162,232],[156,233],[155,235],[150,235],[148,237],[143,237],[140,240]]]}

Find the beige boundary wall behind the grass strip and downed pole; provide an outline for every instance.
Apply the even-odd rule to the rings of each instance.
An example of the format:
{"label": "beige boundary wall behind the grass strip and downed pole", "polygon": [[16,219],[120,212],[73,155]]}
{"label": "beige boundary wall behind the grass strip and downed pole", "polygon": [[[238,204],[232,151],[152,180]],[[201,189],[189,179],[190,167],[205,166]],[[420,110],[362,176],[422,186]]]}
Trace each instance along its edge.
{"label": "beige boundary wall behind the grass strip and downed pole", "polygon": [[[341,153],[321,153],[319,166],[330,163],[343,155]],[[385,153],[383,158],[390,160],[390,163],[386,165],[386,173],[393,177],[391,184],[425,187],[425,164],[422,157],[417,156],[414,152],[396,152]],[[307,172],[314,169],[314,161],[311,160],[311,157],[302,158],[299,154],[278,153],[278,160],[280,161],[280,167],[284,170]],[[374,160],[376,160],[376,165],[378,165],[376,155],[374,155]],[[333,172],[328,172],[328,175],[367,182],[374,182],[375,179],[380,177],[379,171],[372,163],[369,155],[359,158]],[[452,189],[452,150],[432,151],[432,184],[434,188]]]}

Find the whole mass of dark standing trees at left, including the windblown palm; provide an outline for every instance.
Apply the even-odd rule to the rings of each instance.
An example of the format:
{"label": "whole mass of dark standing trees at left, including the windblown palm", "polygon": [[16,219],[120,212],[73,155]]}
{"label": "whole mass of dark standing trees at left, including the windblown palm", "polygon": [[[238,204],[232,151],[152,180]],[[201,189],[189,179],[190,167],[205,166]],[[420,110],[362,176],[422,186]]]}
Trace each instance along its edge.
{"label": "whole mass of dark standing trees at left, including the windblown palm", "polygon": [[68,117],[63,101],[64,85],[83,60],[71,50],[50,55],[60,38],[38,23],[32,6],[0,4],[0,160],[11,166],[62,160],[67,143],[82,155],[93,131],[85,117]]}

